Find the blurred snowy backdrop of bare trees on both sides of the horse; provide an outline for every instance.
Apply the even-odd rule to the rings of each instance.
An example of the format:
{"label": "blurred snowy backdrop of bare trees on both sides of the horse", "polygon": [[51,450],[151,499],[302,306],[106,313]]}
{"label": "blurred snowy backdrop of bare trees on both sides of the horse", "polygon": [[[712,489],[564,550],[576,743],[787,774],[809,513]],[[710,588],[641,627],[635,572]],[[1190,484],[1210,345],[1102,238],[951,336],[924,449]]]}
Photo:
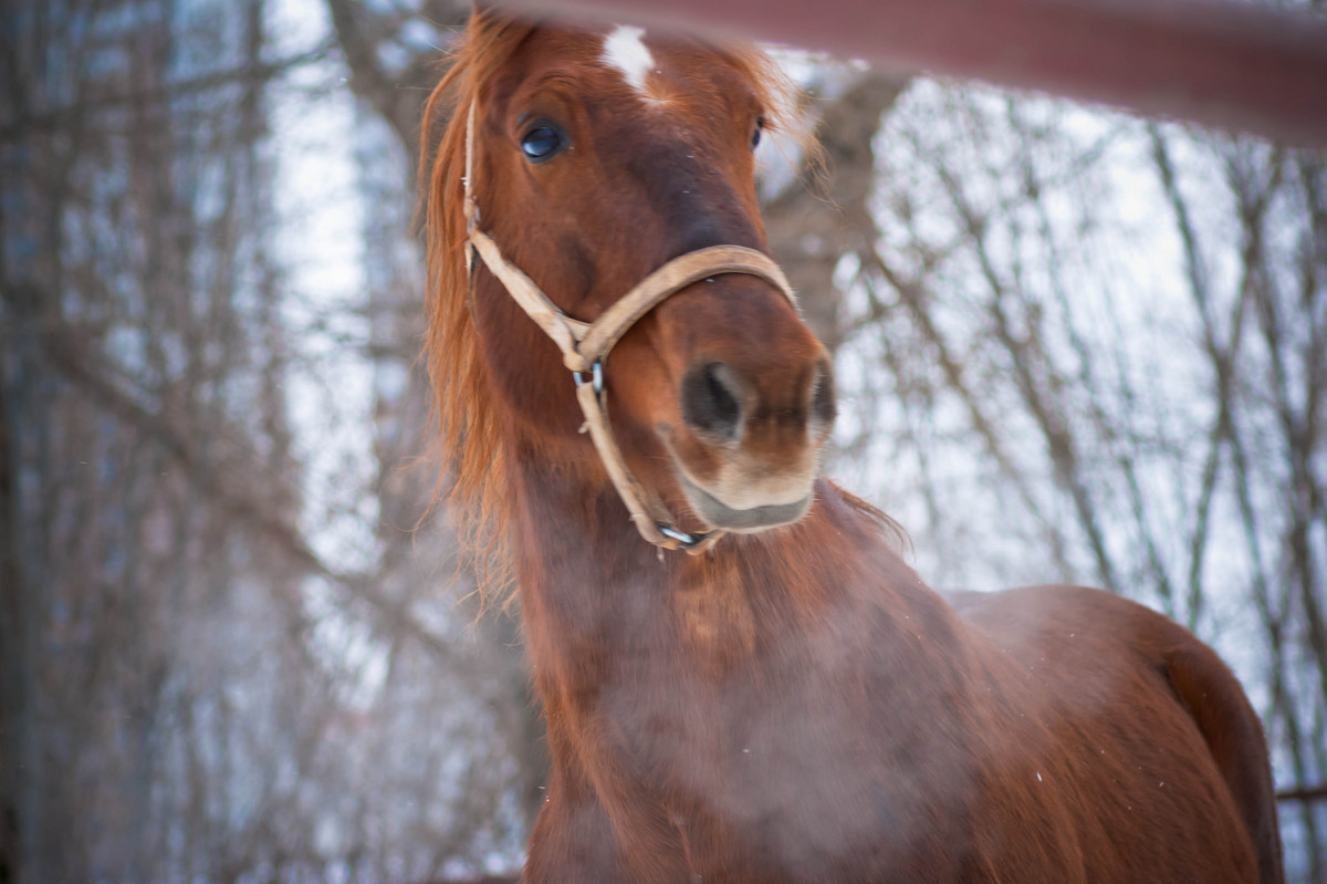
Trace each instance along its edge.
{"label": "blurred snowy backdrop of bare trees on both sides of the horse", "polygon": [[[5,1],[0,883],[519,865],[516,623],[421,523],[410,179],[467,5]],[[827,175],[772,145],[763,192],[828,473],[938,587],[1214,644],[1327,881],[1327,154],[787,57]]]}

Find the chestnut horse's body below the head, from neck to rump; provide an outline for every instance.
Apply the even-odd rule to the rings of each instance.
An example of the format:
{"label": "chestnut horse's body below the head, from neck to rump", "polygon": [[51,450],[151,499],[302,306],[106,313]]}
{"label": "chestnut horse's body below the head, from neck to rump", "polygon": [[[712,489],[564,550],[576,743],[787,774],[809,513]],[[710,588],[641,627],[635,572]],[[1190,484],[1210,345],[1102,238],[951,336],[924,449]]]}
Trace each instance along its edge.
{"label": "chestnut horse's body below the head, from neck to rump", "polygon": [[[851,563],[803,563],[813,601],[760,538],[661,563],[618,524],[587,560],[579,531],[612,526],[551,524],[524,526],[540,552],[522,567],[560,759],[531,881],[1279,880],[1168,657],[1214,665],[1205,689],[1246,727],[1253,711],[1158,615],[1054,587],[965,600],[962,619],[832,486],[783,542],[857,535]],[[1237,770],[1266,819],[1254,737]]]}

